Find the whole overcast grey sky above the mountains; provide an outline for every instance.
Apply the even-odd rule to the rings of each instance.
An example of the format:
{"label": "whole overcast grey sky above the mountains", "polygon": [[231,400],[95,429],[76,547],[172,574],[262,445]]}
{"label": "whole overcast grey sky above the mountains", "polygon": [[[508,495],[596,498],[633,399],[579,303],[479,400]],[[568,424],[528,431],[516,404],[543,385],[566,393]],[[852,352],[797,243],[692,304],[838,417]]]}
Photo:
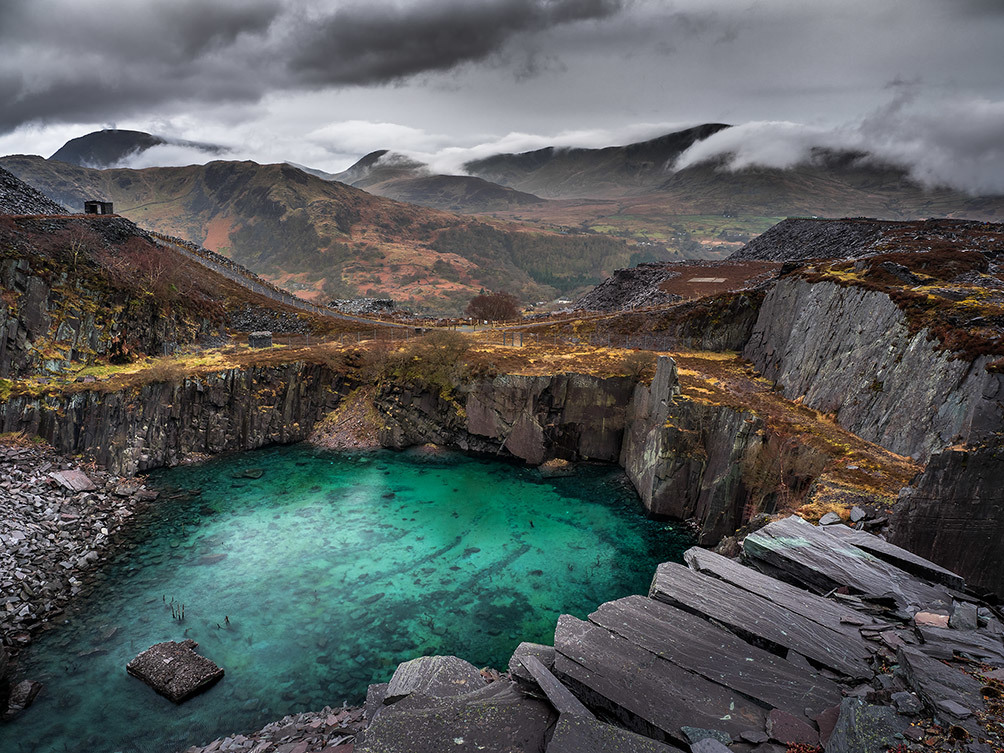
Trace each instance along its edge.
{"label": "whole overcast grey sky above the mountains", "polygon": [[449,169],[716,120],[743,130],[688,159],[856,146],[1004,191],[1004,1],[0,0],[0,154],[113,123],[261,162],[391,148]]}

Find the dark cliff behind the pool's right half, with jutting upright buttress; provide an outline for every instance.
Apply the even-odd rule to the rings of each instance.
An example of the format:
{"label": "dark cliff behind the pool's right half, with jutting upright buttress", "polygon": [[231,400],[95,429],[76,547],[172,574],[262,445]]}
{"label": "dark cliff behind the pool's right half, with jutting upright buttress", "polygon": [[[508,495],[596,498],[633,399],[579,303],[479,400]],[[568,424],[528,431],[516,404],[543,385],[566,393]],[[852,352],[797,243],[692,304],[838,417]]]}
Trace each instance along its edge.
{"label": "dark cliff behind the pool's right half, with jutting upright buttress", "polygon": [[[619,463],[650,513],[694,519],[703,544],[742,525],[753,491],[746,471],[772,449],[752,414],[682,398],[667,356],[651,386],[629,378],[510,374],[468,385],[453,400],[395,386],[376,406],[389,447],[432,442],[532,465],[551,458]],[[769,506],[772,497],[764,497]]]}

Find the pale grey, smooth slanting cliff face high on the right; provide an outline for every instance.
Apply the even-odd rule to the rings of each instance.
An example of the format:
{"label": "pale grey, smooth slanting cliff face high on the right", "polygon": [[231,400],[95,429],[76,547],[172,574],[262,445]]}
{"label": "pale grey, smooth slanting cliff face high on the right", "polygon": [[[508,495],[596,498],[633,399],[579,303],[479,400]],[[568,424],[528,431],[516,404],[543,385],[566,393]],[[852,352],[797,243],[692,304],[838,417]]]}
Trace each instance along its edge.
{"label": "pale grey, smooth slanting cliff face high on the right", "polygon": [[834,413],[840,426],[926,460],[1004,425],[1004,374],[911,334],[890,297],[782,278],[760,309],[744,355],[790,399]]}

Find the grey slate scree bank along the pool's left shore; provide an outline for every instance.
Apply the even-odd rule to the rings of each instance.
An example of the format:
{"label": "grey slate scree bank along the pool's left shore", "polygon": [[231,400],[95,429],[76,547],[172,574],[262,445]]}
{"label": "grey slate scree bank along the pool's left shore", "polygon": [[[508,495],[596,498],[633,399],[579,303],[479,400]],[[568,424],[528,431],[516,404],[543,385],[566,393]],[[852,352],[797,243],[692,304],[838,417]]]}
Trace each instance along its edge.
{"label": "grey slate scree bank along the pool's left shore", "polygon": [[[158,493],[18,438],[0,442],[0,636],[7,644],[0,651],[13,658],[6,670],[13,676],[17,651],[86,590],[131,518]],[[15,693],[8,709],[6,683],[0,677],[0,716],[23,701]]]}

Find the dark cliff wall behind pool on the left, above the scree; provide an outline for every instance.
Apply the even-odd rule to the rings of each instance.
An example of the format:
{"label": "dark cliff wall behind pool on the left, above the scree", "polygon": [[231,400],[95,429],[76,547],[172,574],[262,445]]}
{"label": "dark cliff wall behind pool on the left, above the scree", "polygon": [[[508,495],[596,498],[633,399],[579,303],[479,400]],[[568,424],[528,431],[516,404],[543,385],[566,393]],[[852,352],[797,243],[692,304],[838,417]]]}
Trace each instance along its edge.
{"label": "dark cliff wall behind pool on the left, above the scree", "polygon": [[302,441],[345,392],[313,364],[235,368],[126,392],[12,398],[0,405],[0,431],[37,435],[128,475],[193,454]]}

